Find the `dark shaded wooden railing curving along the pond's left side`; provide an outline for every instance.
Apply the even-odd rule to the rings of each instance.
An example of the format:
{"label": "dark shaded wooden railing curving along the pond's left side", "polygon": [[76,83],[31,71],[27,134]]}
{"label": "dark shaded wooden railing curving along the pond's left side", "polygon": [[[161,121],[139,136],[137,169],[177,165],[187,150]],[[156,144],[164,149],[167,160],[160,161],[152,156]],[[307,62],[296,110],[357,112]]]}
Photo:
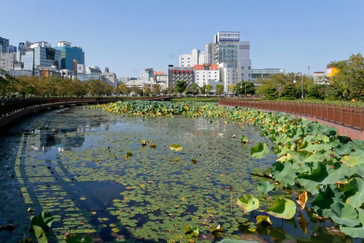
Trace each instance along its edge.
{"label": "dark shaded wooden railing curving along the pond's left side", "polygon": [[126,100],[165,100],[169,97],[19,98],[0,100],[0,127],[24,115],[52,107],[103,104]]}

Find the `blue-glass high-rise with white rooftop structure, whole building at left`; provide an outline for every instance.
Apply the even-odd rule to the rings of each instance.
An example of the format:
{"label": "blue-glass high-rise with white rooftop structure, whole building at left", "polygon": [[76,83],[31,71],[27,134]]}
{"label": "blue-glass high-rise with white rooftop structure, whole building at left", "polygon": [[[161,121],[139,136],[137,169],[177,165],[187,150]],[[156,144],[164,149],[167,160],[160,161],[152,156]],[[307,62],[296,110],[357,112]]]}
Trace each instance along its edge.
{"label": "blue-glass high-rise with white rooftop structure, whole building at left", "polygon": [[58,45],[53,47],[61,52],[61,69],[77,71],[77,64],[85,64],[85,52],[82,47],[71,47],[71,42],[57,41]]}

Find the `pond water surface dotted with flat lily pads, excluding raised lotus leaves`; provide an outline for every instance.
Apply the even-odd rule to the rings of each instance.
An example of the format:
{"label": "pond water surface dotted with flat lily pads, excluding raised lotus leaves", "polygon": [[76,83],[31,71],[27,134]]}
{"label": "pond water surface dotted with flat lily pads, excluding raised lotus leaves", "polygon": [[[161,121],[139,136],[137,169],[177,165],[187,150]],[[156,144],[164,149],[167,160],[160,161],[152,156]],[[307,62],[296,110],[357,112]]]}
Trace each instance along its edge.
{"label": "pond water surface dotted with flat lily pads, excluding raised lotus leaves", "polygon": [[[194,240],[206,242],[351,241],[329,221],[320,227],[310,210],[272,226],[255,225],[264,211],[243,214],[237,199],[250,193],[265,202],[256,175],[276,160],[271,151],[250,156],[258,142],[272,146],[256,128],[227,118],[128,117],[80,106],[37,113],[1,132],[0,240],[35,239],[31,216],[48,211],[46,242],[66,232],[102,242],[187,242],[188,224],[199,228]],[[269,203],[282,194],[295,201],[295,191],[279,189]],[[218,225],[224,230],[211,234]]]}

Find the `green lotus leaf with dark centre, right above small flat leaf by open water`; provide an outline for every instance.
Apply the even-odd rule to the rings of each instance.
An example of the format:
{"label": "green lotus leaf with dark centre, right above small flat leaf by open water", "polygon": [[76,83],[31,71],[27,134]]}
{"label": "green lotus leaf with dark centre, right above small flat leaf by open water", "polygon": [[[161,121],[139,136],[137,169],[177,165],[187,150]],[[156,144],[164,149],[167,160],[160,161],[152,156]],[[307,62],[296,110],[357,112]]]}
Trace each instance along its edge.
{"label": "green lotus leaf with dark centre, right above small flat leaf by open water", "polygon": [[296,174],[290,162],[277,161],[271,166],[271,174],[276,181],[281,181],[285,187],[295,185]]}

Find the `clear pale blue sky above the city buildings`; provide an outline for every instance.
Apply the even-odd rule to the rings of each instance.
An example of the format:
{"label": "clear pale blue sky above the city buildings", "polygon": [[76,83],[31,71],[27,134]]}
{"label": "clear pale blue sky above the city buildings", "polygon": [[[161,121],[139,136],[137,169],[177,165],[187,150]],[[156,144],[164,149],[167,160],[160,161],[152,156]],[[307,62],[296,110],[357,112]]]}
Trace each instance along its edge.
{"label": "clear pale blue sky above the city buildings", "polygon": [[253,69],[310,74],[364,52],[364,0],[0,0],[0,36],[82,46],[85,64],[118,77],[167,71],[178,56],[238,31]]}

